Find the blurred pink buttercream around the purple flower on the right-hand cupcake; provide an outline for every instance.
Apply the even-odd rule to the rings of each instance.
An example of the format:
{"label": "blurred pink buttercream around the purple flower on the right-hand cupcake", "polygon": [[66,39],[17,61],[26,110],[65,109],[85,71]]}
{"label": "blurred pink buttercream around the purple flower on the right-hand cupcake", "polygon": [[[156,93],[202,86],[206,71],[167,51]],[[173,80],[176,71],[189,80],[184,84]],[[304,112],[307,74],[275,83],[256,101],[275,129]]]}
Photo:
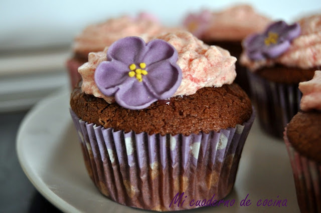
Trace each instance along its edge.
{"label": "blurred pink buttercream around the purple flower on the right-hand cupcake", "polygon": [[294,39],[290,48],[275,59],[250,60],[243,51],[240,62],[255,72],[262,67],[281,64],[288,67],[308,69],[321,66],[321,15],[305,17],[298,21],[301,34]]}

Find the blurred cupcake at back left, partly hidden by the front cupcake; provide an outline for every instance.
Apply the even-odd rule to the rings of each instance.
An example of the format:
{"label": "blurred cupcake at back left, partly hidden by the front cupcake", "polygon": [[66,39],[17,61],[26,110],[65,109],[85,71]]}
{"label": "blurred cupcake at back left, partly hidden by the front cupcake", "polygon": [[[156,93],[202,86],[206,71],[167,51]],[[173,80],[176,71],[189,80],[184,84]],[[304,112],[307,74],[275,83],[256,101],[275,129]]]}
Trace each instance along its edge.
{"label": "blurred cupcake at back left, partly hidden by the front cupcake", "polygon": [[88,26],[75,38],[73,57],[67,61],[72,88],[81,80],[78,67],[88,61],[90,52],[103,51],[106,46],[127,36],[148,37],[173,30],[161,26],[147,13],[140,13],[136,18],[123,16]]}

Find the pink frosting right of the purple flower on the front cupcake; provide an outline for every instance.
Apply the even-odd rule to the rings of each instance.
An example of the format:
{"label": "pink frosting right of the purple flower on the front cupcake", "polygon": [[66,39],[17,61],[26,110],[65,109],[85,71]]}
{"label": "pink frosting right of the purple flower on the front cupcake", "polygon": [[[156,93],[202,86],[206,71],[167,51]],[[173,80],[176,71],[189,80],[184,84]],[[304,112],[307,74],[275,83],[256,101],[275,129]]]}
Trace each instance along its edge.
{"label": "pink frosting right of the purple flower on the front cupcake", "polygon": [[218,46],[208,46],[191,33],[177,32],[156,37],[169,42],[179,53],[177,64],[183,72],[175,95],[192,95],[203,87],[231,84],[235,77],[236,58]]}

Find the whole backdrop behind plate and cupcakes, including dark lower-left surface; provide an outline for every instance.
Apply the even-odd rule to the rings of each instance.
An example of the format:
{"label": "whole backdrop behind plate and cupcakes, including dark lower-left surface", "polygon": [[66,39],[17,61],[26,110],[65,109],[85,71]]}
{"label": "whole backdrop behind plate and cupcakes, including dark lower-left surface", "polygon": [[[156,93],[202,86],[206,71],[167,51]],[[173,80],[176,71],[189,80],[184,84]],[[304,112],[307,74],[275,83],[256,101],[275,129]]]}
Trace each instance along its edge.
{"label": "whole backdrop behind plate and cupcakes, including dark lower-left surface", "polygon": [[66,60],[73,38],[85,26],[139,12],[177,26],[188,12],[235,4],[250,4],[260,14],[289,22],[321,11],[320,0],[0,1],[0,212],[60,212],[27,179],[15,141],[31,106],[56,90],[69,89]]}

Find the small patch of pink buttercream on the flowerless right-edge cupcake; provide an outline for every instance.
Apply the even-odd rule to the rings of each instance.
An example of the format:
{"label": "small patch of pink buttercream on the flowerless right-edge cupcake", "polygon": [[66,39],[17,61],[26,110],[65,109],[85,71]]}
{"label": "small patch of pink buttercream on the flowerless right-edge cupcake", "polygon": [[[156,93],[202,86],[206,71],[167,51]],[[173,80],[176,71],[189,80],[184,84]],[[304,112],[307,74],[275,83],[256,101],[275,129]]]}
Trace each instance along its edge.
{"label": "small patch of pink buttercream on the flowerless right-edge cupcake", "polygon": [[301,110],[321,110],[321,71],[315,71],[311,80],[299,83],[299,89],[303,94],[300,103]]}

